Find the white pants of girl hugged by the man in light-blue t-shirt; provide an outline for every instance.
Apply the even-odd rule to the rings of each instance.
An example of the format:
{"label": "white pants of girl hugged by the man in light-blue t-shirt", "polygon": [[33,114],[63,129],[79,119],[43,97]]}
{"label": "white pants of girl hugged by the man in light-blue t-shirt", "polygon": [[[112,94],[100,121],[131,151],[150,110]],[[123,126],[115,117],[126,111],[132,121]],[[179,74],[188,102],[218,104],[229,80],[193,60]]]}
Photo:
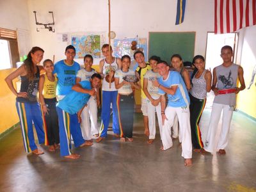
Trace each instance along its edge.
{"label": "white pants of girl hugged by the man in light-blue t-shirt", "polygon": [[162,116],[161,116],[161,103],[158,106],[153,106],[150,100],[147,99],[147,111],[148,111],[148,129],[149,139],[154,140],[156,137],[156,115],[159,125],[160,137],[162,138]]}

